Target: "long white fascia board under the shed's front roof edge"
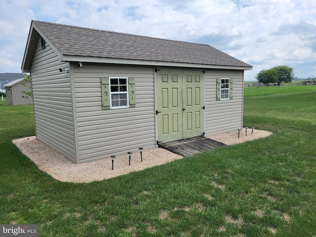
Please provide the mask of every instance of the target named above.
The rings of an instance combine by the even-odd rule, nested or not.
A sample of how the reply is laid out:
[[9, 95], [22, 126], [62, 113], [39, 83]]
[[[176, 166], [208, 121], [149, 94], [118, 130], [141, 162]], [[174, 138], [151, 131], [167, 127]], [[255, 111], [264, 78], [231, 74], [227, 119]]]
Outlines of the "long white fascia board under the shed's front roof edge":
[[72, 56], [72, 55], [64, 55], [62, 61], [83, 62], [83, 64], [84, 62], [87, 62], [87, 63], [111, 63], [111, 64], [166, 66], [166, 67], [184, 67], [184, 68], [252, 70], [252, 67], [234, 67], [234, 66], [221, 66], [221, 65], [162, 62], [162, 61], [134, 60], [134, 59], [120, 59], [120, 58], [85, 57], [85, 56]]

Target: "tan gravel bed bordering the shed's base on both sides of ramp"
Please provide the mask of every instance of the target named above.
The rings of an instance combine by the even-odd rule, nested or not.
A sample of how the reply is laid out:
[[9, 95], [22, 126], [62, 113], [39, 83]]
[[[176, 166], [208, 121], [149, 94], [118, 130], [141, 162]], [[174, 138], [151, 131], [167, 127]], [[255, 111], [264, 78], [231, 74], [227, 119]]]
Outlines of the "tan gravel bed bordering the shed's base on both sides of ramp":
[[[248, 129], [247, 136], [245, 130], [222, 133], [209, 138], [222, 142], [227, 145], [245, 142], [271, 135], [271, 132], [263, 130]], [[172, 162], [183, 157], [171, 153], [162, 148], [143, 150], [143, 162], [139, 152], [134, 152], [131, 156], [131, 165], [128, 165], [128, 155], [121, 155], [114, 160], [114, 170], [112, 170], [112, 159], [104, 158], [101, 160], [75, 164], [68, 158], [59, 154], [52, 148], [36, 139], [36, 136], [23, 137], [12, 140], [12, 142], [27, 156], [37, 167], [51, 175], [53, 178], [63, 182], [88, 183], [97, 180], [110, 179], [119, 175], [134, 171], [143, 170], [149, 167]]]

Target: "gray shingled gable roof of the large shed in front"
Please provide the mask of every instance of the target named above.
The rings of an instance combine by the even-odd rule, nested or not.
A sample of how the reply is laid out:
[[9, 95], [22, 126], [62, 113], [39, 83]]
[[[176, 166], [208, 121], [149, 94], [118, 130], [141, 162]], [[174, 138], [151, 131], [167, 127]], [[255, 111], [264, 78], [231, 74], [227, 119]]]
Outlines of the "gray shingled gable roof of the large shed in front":
[[[51, 43], [61, 61], [114, 62], [143, 65], [182, 63], [252, 68], [207, 44], [166, 40], [77, 26], [32, 21], [22, 71], [28, 72], [39, 37]], [[107, 60], [105, 60], [107, 59]]]

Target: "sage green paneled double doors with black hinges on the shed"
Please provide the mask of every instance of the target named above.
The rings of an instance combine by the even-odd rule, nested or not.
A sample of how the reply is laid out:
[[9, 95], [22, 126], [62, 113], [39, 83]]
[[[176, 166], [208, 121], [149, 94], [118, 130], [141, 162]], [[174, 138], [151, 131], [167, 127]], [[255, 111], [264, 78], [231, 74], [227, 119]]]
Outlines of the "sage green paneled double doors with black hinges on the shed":
[[199, 136], [204, 131], [204, 75], [200, 71], [157, 72], [158, 142]]

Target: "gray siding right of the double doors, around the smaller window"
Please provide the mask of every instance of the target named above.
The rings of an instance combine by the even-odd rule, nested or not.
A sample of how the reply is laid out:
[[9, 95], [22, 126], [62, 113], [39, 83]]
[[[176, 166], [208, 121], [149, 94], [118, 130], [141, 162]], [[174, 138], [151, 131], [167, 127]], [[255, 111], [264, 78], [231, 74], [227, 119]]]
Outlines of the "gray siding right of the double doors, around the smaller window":
[[[234, 80], [232, 100], [216, 100], [216, 79]], [[243, 71], [205, 71], [205, 136], [242, 127]]]

